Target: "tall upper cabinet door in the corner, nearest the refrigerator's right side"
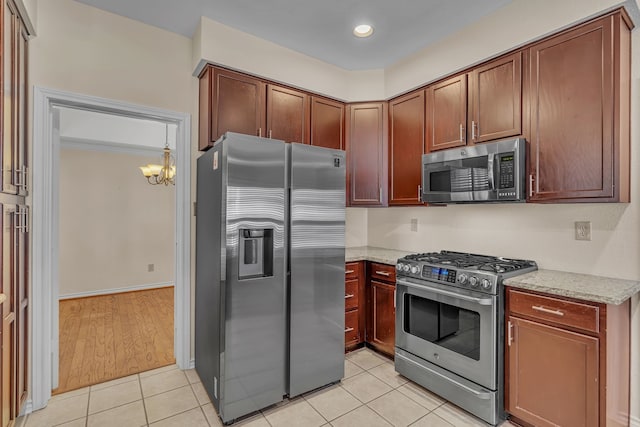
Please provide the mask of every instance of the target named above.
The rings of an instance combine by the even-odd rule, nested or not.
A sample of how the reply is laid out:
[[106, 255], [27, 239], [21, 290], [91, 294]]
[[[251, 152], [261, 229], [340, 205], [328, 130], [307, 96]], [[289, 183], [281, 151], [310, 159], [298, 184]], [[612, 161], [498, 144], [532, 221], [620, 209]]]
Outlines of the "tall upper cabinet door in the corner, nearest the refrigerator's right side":
[[351, 206], [385, 206], [387, 104], [352, 104], [347, 110], [347, 197]]

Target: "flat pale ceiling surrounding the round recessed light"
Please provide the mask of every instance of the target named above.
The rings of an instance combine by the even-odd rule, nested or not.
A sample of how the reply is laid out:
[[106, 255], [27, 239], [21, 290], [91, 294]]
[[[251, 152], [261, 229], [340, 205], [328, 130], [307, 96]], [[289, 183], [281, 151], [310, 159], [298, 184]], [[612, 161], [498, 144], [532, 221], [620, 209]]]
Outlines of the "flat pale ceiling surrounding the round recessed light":
[[[368, 70], [392, 65], [512, 0], [77, 1], [187, 37], [206, 16], [341, 68]], [[360, 23], [373, 25], [373, 36], [354, 37]]]

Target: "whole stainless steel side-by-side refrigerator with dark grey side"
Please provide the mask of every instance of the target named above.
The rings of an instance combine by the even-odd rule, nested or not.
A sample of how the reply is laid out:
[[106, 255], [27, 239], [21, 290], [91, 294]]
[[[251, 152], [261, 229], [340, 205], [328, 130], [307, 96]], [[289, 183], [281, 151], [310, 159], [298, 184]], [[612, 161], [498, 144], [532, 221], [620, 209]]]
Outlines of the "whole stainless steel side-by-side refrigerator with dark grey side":
[[344, 152], [227, 133], [196, 215], [196, 371], [222, 421], [339, 381]]

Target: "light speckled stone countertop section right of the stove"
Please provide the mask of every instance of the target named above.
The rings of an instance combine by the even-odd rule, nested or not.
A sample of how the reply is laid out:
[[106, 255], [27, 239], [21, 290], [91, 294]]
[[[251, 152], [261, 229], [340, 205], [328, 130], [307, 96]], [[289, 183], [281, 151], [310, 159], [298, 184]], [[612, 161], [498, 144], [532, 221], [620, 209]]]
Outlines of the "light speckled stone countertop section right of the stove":
[[619, 305], [640, 292], [640, 282], [556, 270], [538, 270], [506, 279], [504, 284], [591, 302]]

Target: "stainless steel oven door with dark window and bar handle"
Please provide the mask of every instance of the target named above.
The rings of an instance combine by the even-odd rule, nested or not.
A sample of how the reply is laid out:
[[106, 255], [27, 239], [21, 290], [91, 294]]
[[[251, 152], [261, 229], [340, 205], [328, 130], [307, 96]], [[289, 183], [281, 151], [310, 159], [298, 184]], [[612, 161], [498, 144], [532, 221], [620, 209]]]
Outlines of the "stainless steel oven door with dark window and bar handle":
[[402, 278], [396, 307], [396, 347], [496, 390], [495, 295]]

